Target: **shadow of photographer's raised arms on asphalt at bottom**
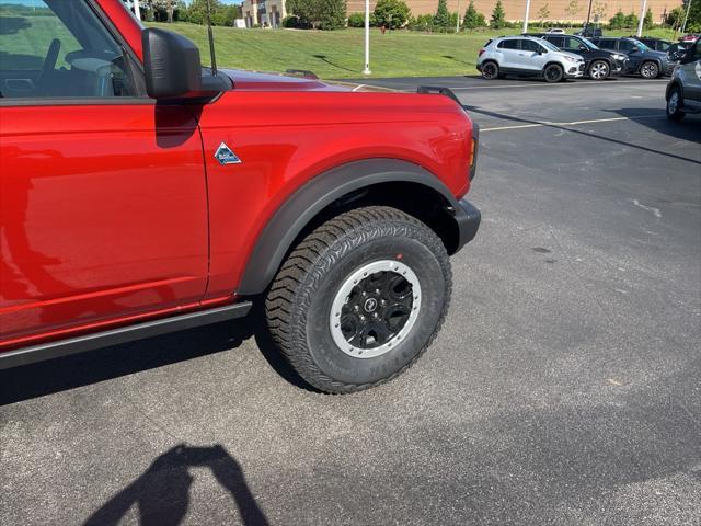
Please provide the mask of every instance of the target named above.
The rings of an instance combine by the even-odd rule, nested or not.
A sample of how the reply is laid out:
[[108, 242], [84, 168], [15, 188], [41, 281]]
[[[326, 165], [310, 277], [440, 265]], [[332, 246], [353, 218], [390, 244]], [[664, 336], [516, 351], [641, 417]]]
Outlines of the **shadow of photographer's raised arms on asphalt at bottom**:
[[179, 525], [189, 507], [194, 477], [189, 468], [209, 468], [233, 499], [245, 526], [269, 524], [245, 481], [237, 460], [221, 446], [181, 444], [159, 456], [134, 482], [94, 512], [84, 526], [117, 525], [137, 506], [141, 526]]

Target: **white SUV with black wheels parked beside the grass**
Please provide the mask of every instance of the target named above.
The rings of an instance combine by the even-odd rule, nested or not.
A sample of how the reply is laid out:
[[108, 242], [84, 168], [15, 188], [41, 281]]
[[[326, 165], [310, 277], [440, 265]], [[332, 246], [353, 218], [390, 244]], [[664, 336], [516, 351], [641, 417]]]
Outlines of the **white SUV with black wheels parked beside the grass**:
[[542, 77], [547, 82], [584, 76], [584, 59], [532, 36], [499, 36], [487, 41], [478, 56], [478, 70], [489, 80], [506, 75]]

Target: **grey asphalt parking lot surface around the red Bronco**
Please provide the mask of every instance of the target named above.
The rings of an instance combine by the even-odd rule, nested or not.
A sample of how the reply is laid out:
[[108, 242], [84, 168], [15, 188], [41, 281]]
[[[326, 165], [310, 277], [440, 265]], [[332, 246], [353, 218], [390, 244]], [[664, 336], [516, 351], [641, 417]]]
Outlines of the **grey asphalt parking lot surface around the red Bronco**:
[[663, 81], [381, 82], [482, 127], [426, 356], [323, 396], [251, 317], [2, 371], [0, 524], [701, 524], [701, 117]]

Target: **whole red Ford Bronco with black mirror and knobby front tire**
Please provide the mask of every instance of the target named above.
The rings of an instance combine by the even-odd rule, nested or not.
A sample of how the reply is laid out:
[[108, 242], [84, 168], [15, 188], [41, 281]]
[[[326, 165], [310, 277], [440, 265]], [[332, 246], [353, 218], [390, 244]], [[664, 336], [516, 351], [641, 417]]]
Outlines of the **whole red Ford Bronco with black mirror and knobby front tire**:
[[0, 0], [0, 368], [243, 317], [352, 392], [446, 316], [476, 126], [449, 92], [203, 68], [120, 0]]

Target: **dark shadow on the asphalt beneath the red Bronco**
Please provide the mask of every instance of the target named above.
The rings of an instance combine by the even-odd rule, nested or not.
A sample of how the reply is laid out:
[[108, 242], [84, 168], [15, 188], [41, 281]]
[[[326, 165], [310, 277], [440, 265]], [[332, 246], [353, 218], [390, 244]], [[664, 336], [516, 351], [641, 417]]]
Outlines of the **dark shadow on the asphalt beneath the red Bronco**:
[[251, 338], [280, 377], [297, 387], [311, 389], [280, 355], [267, 333], [265, 318], [257, 310], [240, 320], [0, 370], [0, 407], [234, 350]]

